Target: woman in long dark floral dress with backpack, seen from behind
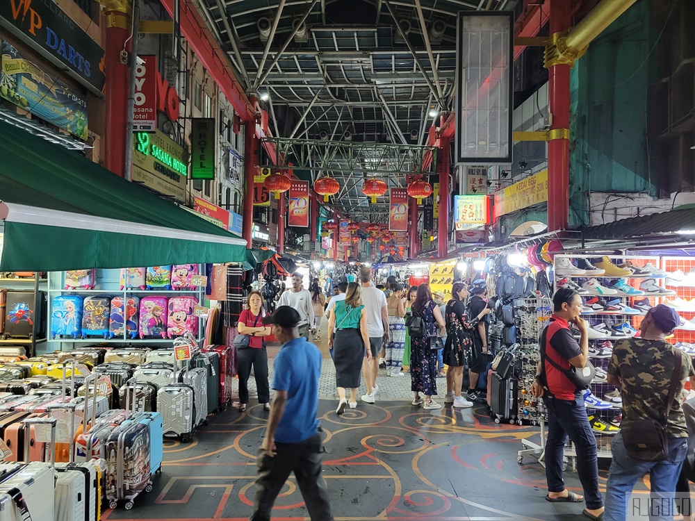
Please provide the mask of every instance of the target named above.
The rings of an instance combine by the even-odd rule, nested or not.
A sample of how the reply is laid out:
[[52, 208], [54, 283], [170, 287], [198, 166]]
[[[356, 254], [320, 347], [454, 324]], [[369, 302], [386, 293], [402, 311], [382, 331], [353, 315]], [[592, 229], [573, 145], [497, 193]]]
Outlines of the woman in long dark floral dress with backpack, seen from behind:
[[[412, 317], [409, 320], [410, 333], [410, 377], [411, 390], [414, 393], [413, 405], [422, 405], [425, 409], [439, 409], [432, 399], [436, 395], [436, 352], [441, 347], [439, 331], [446, 324], [439, 306], [432, 299], [429, 284], [420, 284], [418, 294], [411, 308]], [[420, 331], [415, 331], [414, 324], [420, 318]], [[420, 393], [425, 395], [423, 401]]]

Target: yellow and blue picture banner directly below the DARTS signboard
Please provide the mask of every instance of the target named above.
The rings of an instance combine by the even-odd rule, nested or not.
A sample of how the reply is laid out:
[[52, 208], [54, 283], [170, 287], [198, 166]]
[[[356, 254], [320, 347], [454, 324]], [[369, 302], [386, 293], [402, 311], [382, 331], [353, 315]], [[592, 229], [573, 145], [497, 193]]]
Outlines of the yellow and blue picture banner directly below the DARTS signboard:
[[87, 101], [43, 72], [10, 42], [2, 42], [0, 97], [60, 129], [87, 140]]

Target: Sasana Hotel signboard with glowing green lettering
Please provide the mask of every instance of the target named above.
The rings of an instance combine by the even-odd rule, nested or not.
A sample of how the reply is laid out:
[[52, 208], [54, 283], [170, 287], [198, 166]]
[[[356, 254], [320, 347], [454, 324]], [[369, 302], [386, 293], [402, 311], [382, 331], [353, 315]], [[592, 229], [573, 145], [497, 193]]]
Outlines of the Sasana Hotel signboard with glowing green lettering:
[[161, 131], [138, 132], [133, 139], [133, 183], [186, 201], [188, 156], [183, 147]]

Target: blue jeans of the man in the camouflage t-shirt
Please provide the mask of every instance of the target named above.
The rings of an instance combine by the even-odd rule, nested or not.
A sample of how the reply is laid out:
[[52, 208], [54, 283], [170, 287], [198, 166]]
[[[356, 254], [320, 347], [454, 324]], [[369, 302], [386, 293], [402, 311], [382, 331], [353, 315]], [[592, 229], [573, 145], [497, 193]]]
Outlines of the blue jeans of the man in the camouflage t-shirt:
[[[623, 444], [623, 437], [616, 434], [611, 442], [613, 461], [608, 473], [606, 484], [606, 509], [603, 514], [604, 521], [624, 521], [626, 519], [646, 519], [649, 505], [646, 497], [641, 497], [639, 502], [631, 502], [628, 505], [628, 497], [637, 480], [645, 474], [649, 474], [651, 483], [651, 498], [656, 499], [653, 505], [658, 506], [660, 500], [676, 498], [676, 483], [680, 475], [680, 468], [688, 452], [687, 438], [669, 438], [669, 458], [664, 461], [639, 461], [628, 456]], [[670, 507], [667, 506], [667, 510]], [[651, 515], [654, 513], [655, 515]], [[673, 519], [673, 511], [664, 511], [664, 515], [658, 515], [658, 509], [653, 508], [648, 518], [650, 520]]]

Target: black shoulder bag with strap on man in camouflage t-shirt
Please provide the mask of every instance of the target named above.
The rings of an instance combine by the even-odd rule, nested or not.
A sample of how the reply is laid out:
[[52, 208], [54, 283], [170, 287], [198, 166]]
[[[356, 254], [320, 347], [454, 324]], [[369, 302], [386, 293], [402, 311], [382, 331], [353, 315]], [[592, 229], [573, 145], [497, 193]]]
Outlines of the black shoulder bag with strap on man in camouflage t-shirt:
[[676, 357], [676, 363], [673, 368], [673, 377], [671, 377], [664, 422], [659, 422], [654, 418], [641, 418], [640, 420], [623, 419], [620, 424], [623, 445], [625, 445], [630, 458], [639, 461], [664, 461], [669, 457], [669, 437], [666, 426], [669, 422], [671, 404], [680, 384], [680, 369], [682, 367], [680, 354], [674, 352], [673, 355]]

